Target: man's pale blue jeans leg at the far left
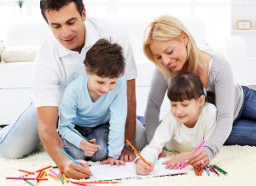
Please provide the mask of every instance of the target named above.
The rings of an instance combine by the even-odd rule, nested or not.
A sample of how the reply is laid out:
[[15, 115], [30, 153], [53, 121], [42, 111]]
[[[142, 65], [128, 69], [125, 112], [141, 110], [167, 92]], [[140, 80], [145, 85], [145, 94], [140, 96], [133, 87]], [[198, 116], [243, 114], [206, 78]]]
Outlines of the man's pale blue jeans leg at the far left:
[[39, 144], [38, 114], [31, 104], [14, 122], [0, 131], [0, 157], [21, 158]]

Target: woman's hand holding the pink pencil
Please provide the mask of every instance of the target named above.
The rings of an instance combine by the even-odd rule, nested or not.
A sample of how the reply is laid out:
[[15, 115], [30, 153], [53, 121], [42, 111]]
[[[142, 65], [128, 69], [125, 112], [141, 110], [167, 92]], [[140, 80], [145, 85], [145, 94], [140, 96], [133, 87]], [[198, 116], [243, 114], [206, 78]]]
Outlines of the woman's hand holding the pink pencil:
[[189, 159], [189, 165], [205, 168], [209, 164], [207, 152], [203, 149], [198, 149], [195, 154]]

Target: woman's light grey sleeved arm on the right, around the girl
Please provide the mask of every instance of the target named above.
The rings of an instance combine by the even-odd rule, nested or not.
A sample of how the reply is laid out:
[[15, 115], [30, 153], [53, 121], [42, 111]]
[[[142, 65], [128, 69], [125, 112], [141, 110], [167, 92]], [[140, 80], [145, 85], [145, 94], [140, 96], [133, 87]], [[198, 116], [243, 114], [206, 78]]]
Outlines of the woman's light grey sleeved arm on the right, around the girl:
[[213, 60], [213, 63], [217, 65], [212, 64], [211, 74], [214, 77], [211, 78], [213, 82], [209, 84], [212, 83], [215, 89], [217, 121], [211, 137], [203, 147], [209, 160], [218, 153], [230, 135], [235, 105], [235, 86], [230, 64], [224, 59]]

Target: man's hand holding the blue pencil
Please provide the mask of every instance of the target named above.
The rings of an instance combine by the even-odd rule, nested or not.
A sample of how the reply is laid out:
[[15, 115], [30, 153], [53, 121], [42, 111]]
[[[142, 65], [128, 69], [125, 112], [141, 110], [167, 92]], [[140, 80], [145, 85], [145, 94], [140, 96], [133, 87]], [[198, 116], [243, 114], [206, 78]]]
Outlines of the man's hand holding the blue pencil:
[[79, 160], [79, 163], [81, 165], [77, 165], [73, 161], [67, 160], [66, 162], [62, 161], [62, 163], [65, 164], [63, 165], [63, 172], [68, 178], [90, 178], [91, 172], [89, 169], [88, 162]]

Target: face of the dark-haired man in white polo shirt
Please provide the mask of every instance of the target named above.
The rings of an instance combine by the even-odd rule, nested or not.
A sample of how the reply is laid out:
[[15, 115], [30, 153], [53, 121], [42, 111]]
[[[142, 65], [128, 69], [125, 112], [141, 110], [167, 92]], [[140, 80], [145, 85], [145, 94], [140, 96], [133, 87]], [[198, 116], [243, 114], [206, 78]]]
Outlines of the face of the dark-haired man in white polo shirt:
[[85, 9], [81, 16], [75, 3], [69, 3], [58, 11], [46, 10], [45, 15], [55, 38], [65, 48], [80, 52], [85, 39]]

